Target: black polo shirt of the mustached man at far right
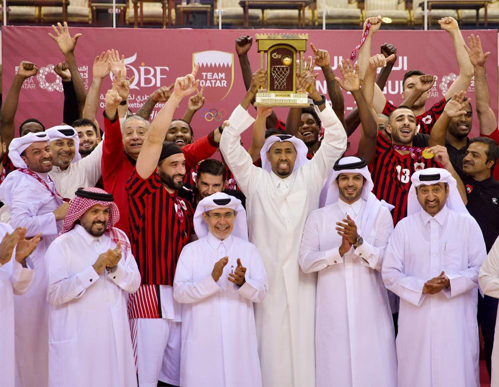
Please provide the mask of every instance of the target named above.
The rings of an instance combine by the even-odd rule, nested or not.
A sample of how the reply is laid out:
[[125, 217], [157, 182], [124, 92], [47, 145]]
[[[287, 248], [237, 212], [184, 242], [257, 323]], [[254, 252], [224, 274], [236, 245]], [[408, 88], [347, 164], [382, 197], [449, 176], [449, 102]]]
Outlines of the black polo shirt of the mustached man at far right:
[[463, 172], [457, 172], [466, 187], [468, 197], [466, 208], [480, 226], [489, 253], [499, 236], [499, 181], [492, 176], [477, 181]]

